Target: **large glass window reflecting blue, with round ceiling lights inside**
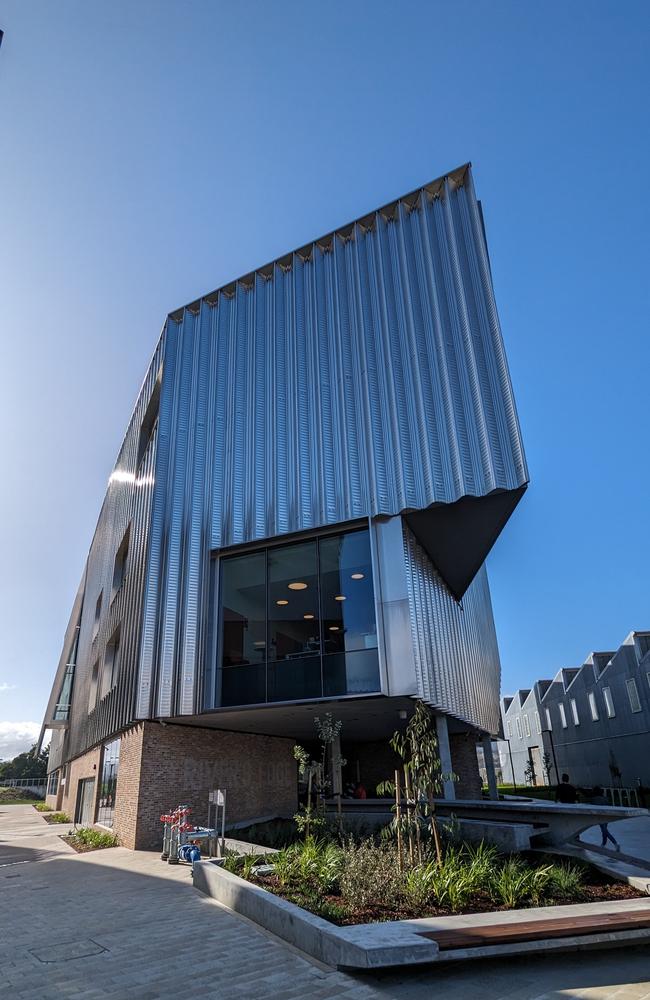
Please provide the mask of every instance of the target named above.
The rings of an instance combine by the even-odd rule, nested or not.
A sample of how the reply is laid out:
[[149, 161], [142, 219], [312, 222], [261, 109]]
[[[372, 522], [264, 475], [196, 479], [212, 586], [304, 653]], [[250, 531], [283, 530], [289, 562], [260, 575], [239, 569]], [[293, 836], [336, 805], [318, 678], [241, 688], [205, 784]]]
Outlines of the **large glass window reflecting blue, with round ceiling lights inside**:
[[379, 690], [367, 530], [221, 560], [217, 705]]

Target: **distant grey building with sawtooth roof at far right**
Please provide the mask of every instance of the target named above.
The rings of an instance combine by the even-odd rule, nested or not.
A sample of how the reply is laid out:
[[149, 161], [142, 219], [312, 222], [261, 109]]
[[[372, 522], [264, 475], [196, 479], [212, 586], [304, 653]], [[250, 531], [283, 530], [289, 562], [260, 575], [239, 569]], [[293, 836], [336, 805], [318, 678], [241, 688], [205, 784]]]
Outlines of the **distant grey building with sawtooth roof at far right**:
[[501, 703], [500, 768], [506, 782], [650, 787], [650, 631], [616, 652], [535, 681]]

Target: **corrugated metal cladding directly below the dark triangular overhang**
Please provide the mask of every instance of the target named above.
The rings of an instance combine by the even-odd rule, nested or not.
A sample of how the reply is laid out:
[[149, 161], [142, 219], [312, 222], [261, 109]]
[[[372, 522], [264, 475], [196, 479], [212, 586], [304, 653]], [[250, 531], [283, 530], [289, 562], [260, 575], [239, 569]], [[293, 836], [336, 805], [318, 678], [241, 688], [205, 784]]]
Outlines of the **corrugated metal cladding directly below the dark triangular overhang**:
[[499, 732], [501, 663], [485, 567], [459, 605], [404, 525], [418, 693], [433, 708]]

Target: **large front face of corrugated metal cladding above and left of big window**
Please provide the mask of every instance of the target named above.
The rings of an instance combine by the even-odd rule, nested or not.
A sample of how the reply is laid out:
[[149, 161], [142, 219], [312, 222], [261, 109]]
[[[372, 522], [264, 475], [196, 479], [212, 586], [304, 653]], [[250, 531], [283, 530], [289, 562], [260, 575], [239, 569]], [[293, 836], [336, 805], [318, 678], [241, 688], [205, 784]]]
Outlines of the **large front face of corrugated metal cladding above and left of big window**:
[[173, 314], [159, 450], [143, 716], [196, 708], [210, 548], [525, 484], [469, 168]]

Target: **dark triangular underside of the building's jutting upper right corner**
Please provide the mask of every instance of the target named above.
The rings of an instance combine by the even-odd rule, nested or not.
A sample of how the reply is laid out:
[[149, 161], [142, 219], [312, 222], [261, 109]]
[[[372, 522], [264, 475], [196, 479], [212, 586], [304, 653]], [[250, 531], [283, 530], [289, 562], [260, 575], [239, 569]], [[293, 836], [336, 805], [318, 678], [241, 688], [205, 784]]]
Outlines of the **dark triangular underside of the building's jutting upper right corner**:
[[457, 601], [485, 562], [525, 489], [521, 486], [486, 497], [463, 497], [456, 503], [404, 514]]

